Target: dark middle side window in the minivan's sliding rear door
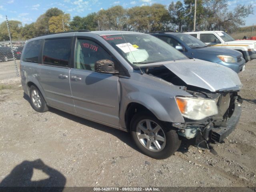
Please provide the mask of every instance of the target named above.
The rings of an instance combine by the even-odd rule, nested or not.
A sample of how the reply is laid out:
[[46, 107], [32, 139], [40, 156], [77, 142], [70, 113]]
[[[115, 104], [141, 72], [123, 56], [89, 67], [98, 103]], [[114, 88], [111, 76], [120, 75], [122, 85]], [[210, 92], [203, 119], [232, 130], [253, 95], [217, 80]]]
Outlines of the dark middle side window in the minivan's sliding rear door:
[[66, 67], [69, 64], [71, 38], [50, 39], [44, 42], [43, 63]]

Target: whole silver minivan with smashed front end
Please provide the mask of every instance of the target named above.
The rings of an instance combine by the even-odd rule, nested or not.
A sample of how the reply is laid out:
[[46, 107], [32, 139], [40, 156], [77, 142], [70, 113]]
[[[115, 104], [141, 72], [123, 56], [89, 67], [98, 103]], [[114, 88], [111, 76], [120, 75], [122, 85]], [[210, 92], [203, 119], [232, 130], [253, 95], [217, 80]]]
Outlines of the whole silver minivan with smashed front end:
[[26, 42], [21, 82], [32, 108], [48, 107], [130, 132], [162, 159], [181, 138], [209, 147], [234, 130], [242, 86], [233, 70], [190, 59], [137, 32], [86, 30]]

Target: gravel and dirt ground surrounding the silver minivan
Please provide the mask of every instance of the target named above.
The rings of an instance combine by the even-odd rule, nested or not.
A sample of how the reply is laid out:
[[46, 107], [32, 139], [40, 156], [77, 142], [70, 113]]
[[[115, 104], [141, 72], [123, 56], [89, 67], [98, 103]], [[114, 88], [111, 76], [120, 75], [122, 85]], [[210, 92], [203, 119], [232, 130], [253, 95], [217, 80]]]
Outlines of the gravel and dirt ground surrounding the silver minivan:
[[0, 186], [46, 178], [48, 186], [256, 186], [256, 61], [239, 76], [242, 116], [236, 130], [214, 144], [218, 155], [183, 142], [165, 160], [141, 154], [126, 132], [55, 109], [34, 111], [20, 80], [2, 76]]

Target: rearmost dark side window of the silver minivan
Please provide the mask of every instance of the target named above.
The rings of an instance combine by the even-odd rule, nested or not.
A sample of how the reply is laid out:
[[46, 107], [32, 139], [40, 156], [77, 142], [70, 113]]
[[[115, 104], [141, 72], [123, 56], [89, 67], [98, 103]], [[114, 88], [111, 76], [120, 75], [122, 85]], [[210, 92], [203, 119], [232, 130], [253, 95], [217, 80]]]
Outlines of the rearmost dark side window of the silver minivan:
[[26, 45], [22, 61], [38, 63], [42, 40], [31, 41]]

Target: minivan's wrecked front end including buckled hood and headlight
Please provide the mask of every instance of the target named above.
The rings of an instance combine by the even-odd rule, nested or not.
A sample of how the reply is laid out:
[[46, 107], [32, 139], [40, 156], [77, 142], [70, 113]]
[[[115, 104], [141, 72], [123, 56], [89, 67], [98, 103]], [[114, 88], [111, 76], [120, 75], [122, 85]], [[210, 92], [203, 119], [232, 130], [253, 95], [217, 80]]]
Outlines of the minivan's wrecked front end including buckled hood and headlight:
[[209, 148], [210, 142], [221, 142], [236, 127], [242, 112], [242, 87], [232, 70], [201, 60], [174, 61], [166, 69], [150, 70], [149, 74], [180, 86], [191, 96], [176, 96], [184, 122], [173, 122], [178, 134], [196, 138], [196, 145]]

